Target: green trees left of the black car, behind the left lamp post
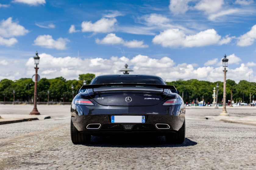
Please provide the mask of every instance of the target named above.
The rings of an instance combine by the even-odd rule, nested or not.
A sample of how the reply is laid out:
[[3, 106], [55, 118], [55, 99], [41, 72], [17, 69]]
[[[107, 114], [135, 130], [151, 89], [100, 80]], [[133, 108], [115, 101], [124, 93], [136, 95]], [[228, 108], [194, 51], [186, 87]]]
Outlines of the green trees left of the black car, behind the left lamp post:
[[[74, 96], [76, 91], [82, 87], [84, 80], [90, 84], [95, 77], [94, 74], [80, 74], [79, 80], [66, 80], [64, 77], [55, 79], [42, 78], [37, 82], [37, 101], [47, 102], [49, 91], [49, 101], [71, 102], [72, 91]], [[13, 101], [13, 90], [15, 91], [15, 101], [32, 101], [34, 98], [34, 82], [31, 78], [21, 78], [20, 80], [3, 79], [0, 81], [0, 101]], [[73, 85], [73, 89], [71, 88]]]

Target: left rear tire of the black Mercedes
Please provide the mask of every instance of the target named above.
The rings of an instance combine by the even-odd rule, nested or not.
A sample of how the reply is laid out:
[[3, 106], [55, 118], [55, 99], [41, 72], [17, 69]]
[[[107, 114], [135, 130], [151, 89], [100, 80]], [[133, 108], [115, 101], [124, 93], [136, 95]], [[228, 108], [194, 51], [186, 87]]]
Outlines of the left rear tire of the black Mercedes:
[[73, 144], [89, 144], [91, 142], [91, 135], [80, 133], [74, 126], [72, 119], [70, 122], [70, 136]]

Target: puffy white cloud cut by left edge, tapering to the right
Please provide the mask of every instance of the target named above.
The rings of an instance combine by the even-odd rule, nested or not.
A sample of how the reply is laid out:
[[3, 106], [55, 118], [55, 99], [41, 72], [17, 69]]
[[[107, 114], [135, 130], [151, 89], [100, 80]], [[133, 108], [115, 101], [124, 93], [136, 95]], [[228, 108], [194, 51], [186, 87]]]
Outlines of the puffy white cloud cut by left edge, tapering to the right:
[[29, 31], [18, 22], [12, 22], [12, 17], [0, 22], [0, 36], [9, 38], [14, 36], [24, 36]]

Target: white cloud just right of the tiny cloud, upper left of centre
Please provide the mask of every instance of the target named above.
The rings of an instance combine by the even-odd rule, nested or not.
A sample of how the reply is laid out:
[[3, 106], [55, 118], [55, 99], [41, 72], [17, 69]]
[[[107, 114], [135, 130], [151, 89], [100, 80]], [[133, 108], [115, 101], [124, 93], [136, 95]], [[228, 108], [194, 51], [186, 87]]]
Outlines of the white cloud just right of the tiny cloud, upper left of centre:
[[111, 32], [114, 30], [114, 25], [117, 20], [115, 18], [101, 18], [100, 20], [91, 23], [91, 21], [82, 22], [82, 32]]

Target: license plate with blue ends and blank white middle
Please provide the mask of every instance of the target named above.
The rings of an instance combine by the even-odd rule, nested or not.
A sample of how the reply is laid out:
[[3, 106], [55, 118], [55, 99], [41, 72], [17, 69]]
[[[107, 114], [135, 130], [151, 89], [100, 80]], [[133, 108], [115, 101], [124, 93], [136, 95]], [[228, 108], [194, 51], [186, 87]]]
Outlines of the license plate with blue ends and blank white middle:
[[111, 123], [145, 123], [145, 116], [111, 116]]

